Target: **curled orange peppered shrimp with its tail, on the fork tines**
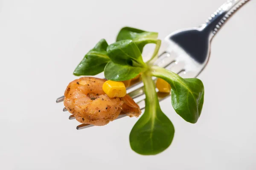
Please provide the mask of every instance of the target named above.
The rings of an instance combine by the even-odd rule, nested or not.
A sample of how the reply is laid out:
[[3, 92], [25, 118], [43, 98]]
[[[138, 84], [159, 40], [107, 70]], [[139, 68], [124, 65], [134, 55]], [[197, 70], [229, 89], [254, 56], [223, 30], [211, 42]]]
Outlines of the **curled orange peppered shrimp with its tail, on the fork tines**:
[[[135, 116], [132, 108], [138, 109], [139, 106], [128, 95], [122, 98], [109, 98], [102, 90], [105, 81], [94, 77], [81, 77], [67, 86], [64, 105], [77, 121], [103, 126], [116, 119], [122, 107], [124, 107], [123, 113]], [[140, 112], [136, 109], [135, 111]]]

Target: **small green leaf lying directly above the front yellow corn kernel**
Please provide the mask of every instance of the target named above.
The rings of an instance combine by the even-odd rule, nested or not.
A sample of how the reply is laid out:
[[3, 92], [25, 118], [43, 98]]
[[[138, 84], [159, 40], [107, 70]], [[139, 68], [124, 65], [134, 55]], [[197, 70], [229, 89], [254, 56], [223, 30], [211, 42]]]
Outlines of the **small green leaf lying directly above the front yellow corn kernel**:
[[108, 62], [104, 69], [106, 79], [113, 81], [124, 81], [133, 79], [145, 69], [141, 67], [133, 67], [130, 65], [119, 65], [112, 61]]

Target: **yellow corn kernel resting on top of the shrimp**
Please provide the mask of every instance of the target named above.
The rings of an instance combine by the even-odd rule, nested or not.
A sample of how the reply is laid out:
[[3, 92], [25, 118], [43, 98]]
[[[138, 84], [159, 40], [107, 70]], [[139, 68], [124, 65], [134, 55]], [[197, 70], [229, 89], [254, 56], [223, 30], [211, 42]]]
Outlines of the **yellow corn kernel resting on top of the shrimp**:
[[126, 88], [123, 82], [107, 80], [104, 82], [102, 89], [110, 98], [124, 97], [126, 94]]

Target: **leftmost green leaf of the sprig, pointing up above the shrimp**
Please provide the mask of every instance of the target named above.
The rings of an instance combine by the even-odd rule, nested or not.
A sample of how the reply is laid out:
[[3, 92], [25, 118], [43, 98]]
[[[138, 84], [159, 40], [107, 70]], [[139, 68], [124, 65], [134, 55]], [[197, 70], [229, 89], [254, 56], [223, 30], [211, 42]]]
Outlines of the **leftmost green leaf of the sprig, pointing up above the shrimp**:
[[76, 76], [93, 76], [104, 71], [105, 65], [110, 61], [106, 51], [107, 47], [108, 43], [106, 40], [100, 40], [84, 56], [84, 59], [76, 67], [73, 74]]

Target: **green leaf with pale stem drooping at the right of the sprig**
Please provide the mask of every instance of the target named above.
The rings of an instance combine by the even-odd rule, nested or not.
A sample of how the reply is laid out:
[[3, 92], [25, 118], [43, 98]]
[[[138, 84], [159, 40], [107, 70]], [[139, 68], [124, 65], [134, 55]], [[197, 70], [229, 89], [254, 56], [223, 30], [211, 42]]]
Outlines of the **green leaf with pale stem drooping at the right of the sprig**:
[[172, 106], [184, 120], [196, 123], [204, 103], [204, 85], [200, 79], [183, 79], [165, 68], [152, 66], [152, 75], [168, 82], [172, 87]]

